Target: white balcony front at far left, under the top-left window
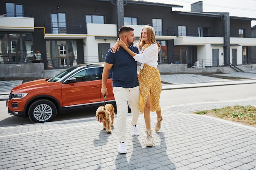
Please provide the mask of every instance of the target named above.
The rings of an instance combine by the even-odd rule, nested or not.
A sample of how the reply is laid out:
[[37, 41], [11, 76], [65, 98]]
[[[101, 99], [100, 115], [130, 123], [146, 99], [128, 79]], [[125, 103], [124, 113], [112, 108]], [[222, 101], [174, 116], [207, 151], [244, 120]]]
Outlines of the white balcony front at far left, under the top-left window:
[[0, 31], [34, 31], [34, 18], [0, 17]]

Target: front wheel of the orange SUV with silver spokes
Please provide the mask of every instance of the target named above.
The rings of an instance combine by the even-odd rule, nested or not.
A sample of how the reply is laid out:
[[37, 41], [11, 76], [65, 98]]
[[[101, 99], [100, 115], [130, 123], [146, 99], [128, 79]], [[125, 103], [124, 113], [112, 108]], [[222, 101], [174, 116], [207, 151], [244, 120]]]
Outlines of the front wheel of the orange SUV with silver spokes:
[[56, 106], [47, 99], [37, 100], [29, 107], [29, 119], [34, 123], [53, 121], [56, 115]]

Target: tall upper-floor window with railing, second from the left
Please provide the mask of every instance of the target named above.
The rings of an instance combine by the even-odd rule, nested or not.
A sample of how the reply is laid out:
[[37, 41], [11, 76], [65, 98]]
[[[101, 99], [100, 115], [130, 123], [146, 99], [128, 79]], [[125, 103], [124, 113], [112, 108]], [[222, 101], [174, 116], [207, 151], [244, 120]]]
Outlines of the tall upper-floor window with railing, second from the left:
[[52, 13], [52, 33], [66, 33], [66, 17], [65, 13]]

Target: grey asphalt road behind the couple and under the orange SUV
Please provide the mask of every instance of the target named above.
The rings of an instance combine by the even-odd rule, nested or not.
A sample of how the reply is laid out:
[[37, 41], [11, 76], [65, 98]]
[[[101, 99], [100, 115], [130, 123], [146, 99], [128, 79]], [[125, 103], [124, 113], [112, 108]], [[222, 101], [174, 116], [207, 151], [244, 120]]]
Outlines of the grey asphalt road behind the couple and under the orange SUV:
[[[183, 88], [162, 91], [160, 105], [162, 108], [191, 103], [227, 102], [240, 99], [255, 99], [255, 84], [238, 84], [200, 88]], [[256, 105], [256, 104], [255, 104]], [[95, 117], [95, 110], [90, 108], [81, 112], [57, 115], [54, 121]], [[0, 127], [32, 124], [30, 119], [9, 115], [6, 101], [0, 101]]]

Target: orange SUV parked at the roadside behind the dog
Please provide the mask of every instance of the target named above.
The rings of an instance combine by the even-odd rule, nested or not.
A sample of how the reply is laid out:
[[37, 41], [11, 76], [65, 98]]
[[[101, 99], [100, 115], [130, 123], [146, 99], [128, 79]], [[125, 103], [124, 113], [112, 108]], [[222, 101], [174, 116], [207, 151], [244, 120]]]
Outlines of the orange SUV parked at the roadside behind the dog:
[[[72, 66], [52, 78], [38, 79], [14, 87], [7, 99], [8, 113], [29, 117], [34, 123], [52, 121], [57, 113], [103, 105], [101, 76], [104, 62]], [[112, 73], [106, 103], [115, 104]]]

